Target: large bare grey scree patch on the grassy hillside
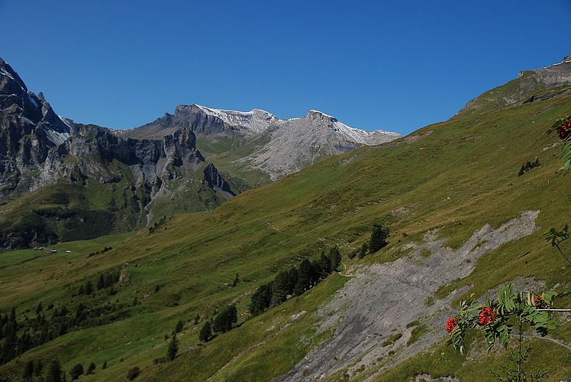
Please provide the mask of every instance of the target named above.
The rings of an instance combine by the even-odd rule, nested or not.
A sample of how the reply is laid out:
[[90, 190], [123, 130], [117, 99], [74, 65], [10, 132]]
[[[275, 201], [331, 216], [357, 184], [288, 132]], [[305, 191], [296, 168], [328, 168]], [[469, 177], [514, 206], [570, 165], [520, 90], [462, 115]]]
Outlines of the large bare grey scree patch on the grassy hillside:
[[[443, 322], [452, 313], [450, 301], [462, 291], [430, 306], [427, 298], [433, 298], [440, 286], [468, 276], [484, 253], [535, 232], [538, 214], [526, 211], [495, 229], [485, 225], [458, 250], [446, 247], [445, 239], [430, 231], [409, 256], [353, 271], [353, 278], [319, 313], [319, 331], [335, 328], [333, 338], [311, 351], [281, 381], [313, 381], [341, 370], [350, 376], [374, 370], [365, 379], [370, 381], [395, 363], [430, 349], [444, 338]], [[430, 256], [425, 256], [427, 251]], [[428, 333], [406, 346], [410, 336], [406, 326], [419, 318]], [[383, 346], [394, 333], [403, 336]]]

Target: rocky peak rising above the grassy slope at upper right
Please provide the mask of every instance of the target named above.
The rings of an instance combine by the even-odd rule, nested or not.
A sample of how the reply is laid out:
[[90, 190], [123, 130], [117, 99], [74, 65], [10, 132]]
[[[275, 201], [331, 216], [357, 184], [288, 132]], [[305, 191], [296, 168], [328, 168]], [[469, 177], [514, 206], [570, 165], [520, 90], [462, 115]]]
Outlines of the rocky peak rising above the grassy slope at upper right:
[[477, 96], [458, 112], [468, 115], [514, 106], [523, 102], [549, 99], [569, 91], [571, 85], [571, 54], [557, 64], [542, 69], [520, 71], [517, 79]]

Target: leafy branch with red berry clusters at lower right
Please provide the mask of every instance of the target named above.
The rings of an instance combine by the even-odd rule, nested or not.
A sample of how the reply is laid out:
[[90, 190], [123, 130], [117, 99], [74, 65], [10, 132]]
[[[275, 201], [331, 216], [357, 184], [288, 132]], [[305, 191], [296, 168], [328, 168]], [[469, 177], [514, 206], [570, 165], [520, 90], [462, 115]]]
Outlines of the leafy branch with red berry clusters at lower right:
[[478, 303], [470, 296], [468, 300], [460, 301], [458, 314], [446, 321], [445, 329], [450, 335], [448, 344], [464, 353], [466, 331], [470, 328], [480, 328], [484, 332], [488, 351], [496, 342], [507, 346], [516, 323], [528, 324], [545, 336], [548, 330], [555, 328], [555, 321], [550, 312], [539, 309], [549, 308], [555, 296], [555, 292], [537, 295], [529, 291], [516, 294], [513, 284], [503, 287], [497, 295], [497, 300], [487, 301], [485, 304]]

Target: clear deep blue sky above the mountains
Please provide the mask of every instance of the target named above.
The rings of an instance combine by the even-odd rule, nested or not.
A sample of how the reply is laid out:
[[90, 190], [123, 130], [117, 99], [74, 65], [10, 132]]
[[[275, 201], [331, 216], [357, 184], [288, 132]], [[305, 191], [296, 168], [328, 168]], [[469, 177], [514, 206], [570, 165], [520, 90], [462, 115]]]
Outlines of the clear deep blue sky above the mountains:
[[82, 123], [203, 104], [408, 133], [560, 61], [570, 18], [571, 0], [0, 0], [0, 56]]

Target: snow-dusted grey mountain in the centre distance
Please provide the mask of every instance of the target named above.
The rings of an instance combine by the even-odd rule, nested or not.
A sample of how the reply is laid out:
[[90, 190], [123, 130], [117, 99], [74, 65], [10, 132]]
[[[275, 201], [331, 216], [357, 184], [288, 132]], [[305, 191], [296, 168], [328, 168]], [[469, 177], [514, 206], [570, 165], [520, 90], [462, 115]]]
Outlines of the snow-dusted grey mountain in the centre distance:
[[216, 166], [243, 179], [256, 179], [253, 186], [281, 179], [328, 156], [400, 137], [354, 129], [315, 110], [284, 120], [260, 109], [231, 111], [201, 105], [177, 106], [174, 114], [117, 134], [158, 139], [181, 128], [196, 134], [198, 147]]

